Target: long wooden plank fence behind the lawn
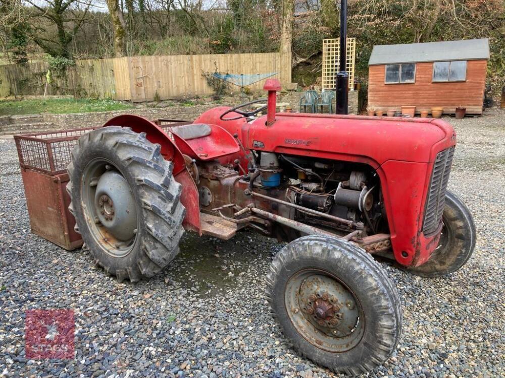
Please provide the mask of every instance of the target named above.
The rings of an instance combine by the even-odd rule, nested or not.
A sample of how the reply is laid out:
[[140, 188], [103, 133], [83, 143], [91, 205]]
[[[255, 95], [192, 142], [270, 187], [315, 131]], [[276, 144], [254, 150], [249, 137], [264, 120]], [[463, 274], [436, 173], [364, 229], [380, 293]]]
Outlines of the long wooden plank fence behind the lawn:
[[[283, 85], [291, 83], [291, 56], [278, 52], [254, 54], [209, 54], [130, 56], [110, 59], [77, 60], [65, 75], [52, 75], [48, 95], [113, 98], [151, 101], [213, 93], [205, 72], [266, 74]], [[0, 97], [43, 95], [48, 64], [0, 66]], [[249, 86], [261, 89], [264, 80]], [[233, 87], [233, 86], [232, 86]], [[239, 90], [238, 87], [233, 88]]]

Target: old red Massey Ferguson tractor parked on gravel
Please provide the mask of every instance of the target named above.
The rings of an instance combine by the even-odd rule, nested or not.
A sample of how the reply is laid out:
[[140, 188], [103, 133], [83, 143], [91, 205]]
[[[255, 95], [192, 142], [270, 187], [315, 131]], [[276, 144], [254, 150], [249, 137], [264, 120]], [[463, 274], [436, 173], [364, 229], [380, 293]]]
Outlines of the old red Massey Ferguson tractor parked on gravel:
[[286, 241], [267, 277], [284, 334], [333, 371], [370, 371], [402, 318], [373, 257], [435, 277], [472, 254], [472, 216], [446, 190], [456, 134], [439, 119], [276, 113], [280, 85], [265, 89], [254, 111], [264, 100], [169, 132], [121, 115], [81, 137], [68, 166], [76, 230], [120, 281], [161, 271], [184, 230]]

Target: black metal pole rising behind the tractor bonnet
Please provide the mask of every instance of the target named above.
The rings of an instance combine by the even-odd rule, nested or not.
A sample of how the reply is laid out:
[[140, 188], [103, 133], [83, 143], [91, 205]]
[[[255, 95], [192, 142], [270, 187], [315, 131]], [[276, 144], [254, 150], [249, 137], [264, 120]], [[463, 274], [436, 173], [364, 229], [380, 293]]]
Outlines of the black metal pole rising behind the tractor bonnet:
[[340, 71], [337, 74], [337, 101], [335, 113], [347, 114], [349, 103], [349, 74], [347, 62], [347, 0], [340, 0]]

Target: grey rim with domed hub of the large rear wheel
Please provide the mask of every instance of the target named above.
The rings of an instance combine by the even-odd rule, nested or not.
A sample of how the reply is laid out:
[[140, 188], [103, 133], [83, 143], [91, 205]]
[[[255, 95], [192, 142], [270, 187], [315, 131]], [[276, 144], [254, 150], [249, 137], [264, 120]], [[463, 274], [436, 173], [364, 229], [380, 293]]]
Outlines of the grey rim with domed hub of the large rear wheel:
[[137, 238], [135, 200], [128, 182], [109, 160], [97, 158], [84, 168], [83, 213], [91, 236], [108, 255], [127, 256]]

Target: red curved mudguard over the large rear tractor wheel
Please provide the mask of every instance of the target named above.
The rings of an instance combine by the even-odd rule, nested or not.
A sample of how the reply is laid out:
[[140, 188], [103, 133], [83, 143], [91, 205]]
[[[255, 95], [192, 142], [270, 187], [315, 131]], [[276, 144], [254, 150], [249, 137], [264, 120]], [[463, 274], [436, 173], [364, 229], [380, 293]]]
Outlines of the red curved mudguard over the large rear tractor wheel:
[[144, 117], [131, 114], [111, 118], [104, 124], [104, 127], [107, 126], [129, 127], [135, 133], [145, 133], [145, 137], [149, 142], [160, 145], [161, 154], [165, 160], [169, 160], [174, 164], [173, 175], [177, 182], [182, 185], [181, 203], [186, 208], [182, 225], [186, 230], [190, 229], [201, 235], [198, 189], [186, 168], [181, 151], [165, 134], [163, 129]]

